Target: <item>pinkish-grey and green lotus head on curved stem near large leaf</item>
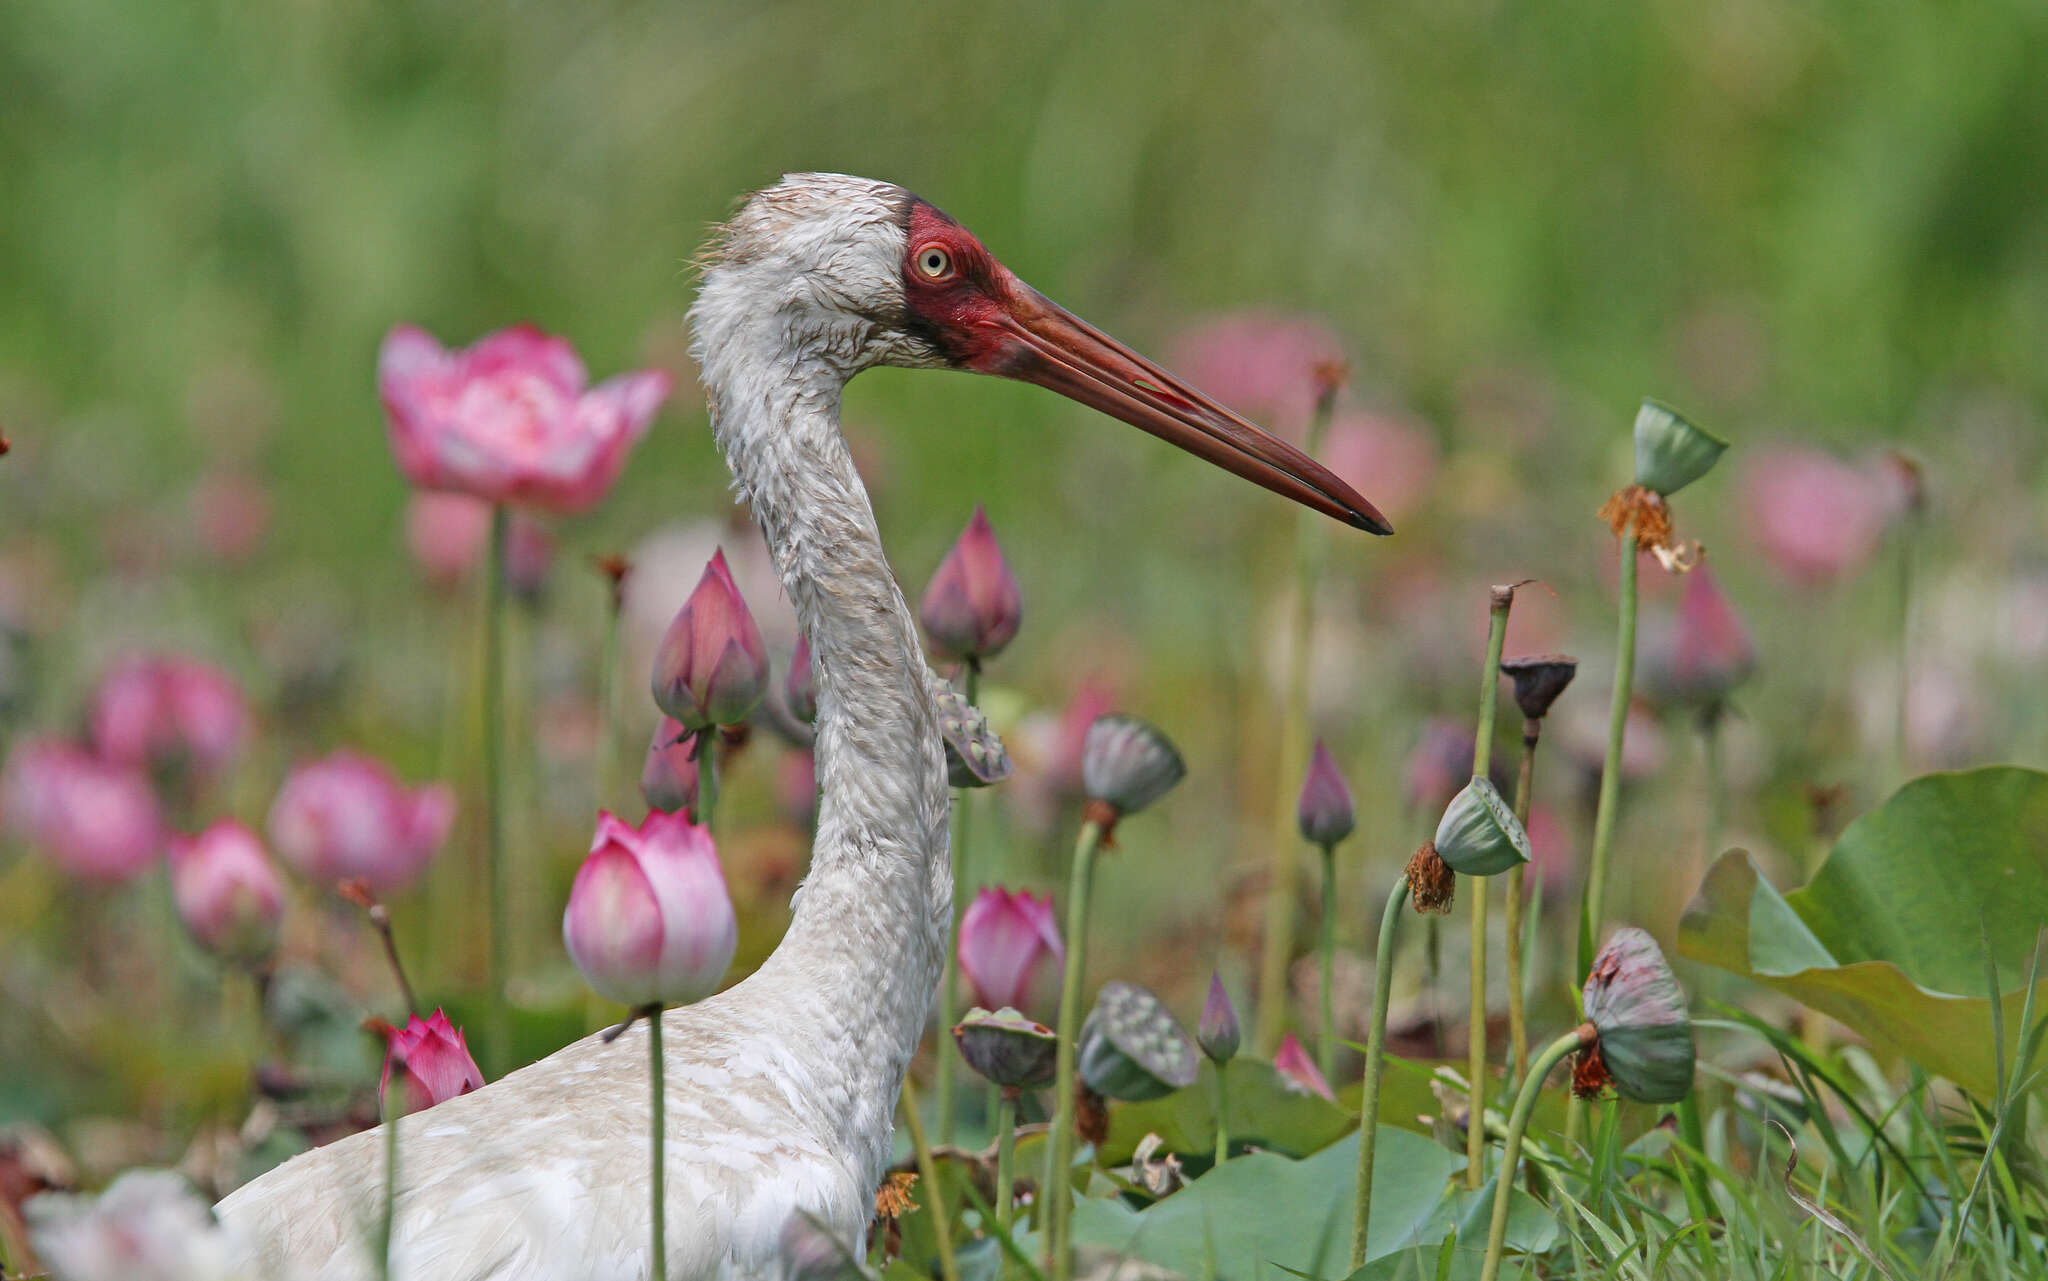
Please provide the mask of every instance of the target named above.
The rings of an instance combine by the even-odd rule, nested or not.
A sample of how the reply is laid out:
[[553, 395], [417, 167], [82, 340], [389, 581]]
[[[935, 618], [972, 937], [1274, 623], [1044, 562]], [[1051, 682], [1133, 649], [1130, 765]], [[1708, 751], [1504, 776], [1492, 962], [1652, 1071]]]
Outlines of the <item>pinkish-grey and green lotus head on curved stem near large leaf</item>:
[[1593, 972], [1585, 978], [1585, 1021], [1599, 1031], [1599, 1064], [1622, 1099], [1677, 1103], [1692, 1092], [1686, 990], [1645, 931], [1614, 931], [1593, 957]]

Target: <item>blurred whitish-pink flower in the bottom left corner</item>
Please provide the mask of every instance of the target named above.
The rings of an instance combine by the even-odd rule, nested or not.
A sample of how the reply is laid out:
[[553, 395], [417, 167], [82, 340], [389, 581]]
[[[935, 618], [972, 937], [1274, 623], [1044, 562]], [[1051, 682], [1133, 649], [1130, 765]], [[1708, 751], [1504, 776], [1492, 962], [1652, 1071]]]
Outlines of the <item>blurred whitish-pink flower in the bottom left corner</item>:
[[29, 1242], [53, 1281], [256, 1281], [248, 1240], [213, 1217], [184, 1174], [129, 1170], [98, 1197], [43, 1193]]

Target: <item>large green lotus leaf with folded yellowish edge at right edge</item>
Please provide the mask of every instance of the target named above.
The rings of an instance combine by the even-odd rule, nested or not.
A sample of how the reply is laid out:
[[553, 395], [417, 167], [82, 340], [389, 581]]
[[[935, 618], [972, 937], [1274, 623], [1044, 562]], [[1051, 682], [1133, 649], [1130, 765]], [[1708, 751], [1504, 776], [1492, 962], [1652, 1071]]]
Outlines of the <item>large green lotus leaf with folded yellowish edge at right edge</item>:
[[1907, 783], [1849, 824], [1792, 894], [1778, 894], [1745, 851], [1729, 851], [1686, 908], [1677, 949], [1991, 1094], [1987, 949], [2011, 1056], [2044, 918], [2048, 773], [1991, 767]]

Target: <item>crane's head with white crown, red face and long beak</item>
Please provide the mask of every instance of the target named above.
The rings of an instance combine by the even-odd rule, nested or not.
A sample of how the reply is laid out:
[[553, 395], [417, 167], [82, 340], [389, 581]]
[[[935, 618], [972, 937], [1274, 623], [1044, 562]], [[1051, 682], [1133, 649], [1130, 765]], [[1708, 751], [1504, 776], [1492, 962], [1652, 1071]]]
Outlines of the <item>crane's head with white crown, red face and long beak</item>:
[[836, 377], [903, 365], [1038, 383], [1346, 525], [1393, 533], [1307, 453], [1044, 297], [891, 182], [788, 174], [745, 201], [702, 266], [690, 320], [707, 377], [723, 348], [752, 340], [801, 348]]

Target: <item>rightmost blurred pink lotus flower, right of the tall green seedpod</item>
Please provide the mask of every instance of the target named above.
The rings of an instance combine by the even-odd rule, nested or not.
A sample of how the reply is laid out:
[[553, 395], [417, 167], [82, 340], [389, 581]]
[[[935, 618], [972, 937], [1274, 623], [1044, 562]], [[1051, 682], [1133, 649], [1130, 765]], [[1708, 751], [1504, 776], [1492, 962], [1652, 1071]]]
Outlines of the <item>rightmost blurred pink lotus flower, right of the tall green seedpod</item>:
[[1821, 584], [1868, 562], [1894, 504], [1896, 484], [1884, 473], [1819, 449], [1761, 449], [1743, 467], [1749, 533], [1800, 584]]

